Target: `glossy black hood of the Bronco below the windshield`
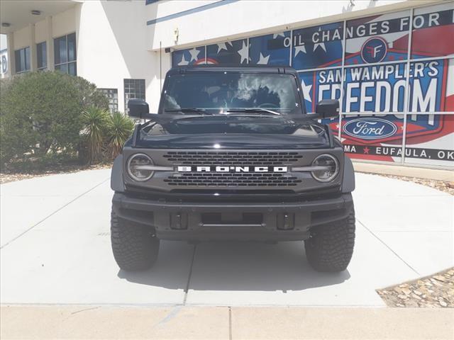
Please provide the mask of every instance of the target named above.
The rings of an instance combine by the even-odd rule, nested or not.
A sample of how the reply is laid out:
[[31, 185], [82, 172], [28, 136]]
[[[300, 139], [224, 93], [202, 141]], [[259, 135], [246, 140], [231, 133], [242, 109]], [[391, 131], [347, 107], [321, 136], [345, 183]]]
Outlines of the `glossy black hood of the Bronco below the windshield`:
[[329, 147], [314, 120], [264, 115], [214, 115], [151, 123], [137, 146], [170, 149], [316, 149]]

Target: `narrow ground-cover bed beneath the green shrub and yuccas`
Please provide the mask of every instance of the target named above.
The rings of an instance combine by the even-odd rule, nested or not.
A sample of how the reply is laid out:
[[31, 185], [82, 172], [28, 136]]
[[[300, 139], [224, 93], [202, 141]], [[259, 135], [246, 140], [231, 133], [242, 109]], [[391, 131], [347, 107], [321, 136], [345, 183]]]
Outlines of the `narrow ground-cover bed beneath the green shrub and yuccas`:
[[61, 165], [55, 166], [52, 169], [43, 171], [28, 171], [23, 173], [0, 173], [0, 184], [9, 183], [13, 181], [21, 181], [23, 179], [33, 179], [34, 177], [43, 177], [55, 174], [70, 174], [82, 170], [96, 170], [96, 169], [109, 169], [112, 164], [96, 164], [96, 165]]

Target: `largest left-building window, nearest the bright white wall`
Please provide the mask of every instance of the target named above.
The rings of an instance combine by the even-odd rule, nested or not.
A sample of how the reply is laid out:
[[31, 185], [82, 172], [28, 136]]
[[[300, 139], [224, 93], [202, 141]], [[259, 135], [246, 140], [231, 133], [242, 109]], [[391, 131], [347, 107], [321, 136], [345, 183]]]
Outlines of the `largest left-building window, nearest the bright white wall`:
[[76, 33], [54, 39], [55, 70], [77, 75]]

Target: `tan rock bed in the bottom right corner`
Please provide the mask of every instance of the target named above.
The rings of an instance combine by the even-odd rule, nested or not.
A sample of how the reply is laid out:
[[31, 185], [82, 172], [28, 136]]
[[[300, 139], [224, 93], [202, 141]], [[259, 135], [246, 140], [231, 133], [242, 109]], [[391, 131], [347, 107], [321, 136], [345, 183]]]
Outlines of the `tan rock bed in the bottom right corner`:
[[377, 293], [388, 307], [454, 307], [454, 268]]

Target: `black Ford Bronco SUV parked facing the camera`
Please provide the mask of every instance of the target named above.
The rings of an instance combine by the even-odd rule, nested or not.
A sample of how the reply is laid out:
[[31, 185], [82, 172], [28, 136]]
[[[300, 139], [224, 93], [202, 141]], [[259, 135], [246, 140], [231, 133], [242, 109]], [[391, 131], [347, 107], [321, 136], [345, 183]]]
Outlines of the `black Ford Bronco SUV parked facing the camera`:
[[289, 67], [170, 69], [157, 114], [128, 101], [135, 126], [115, 159], [111, 242], [118, 266], [149, 268], [160, 240], [304, 241], [317, 271], [343, 271], [355, 242], [353, 165], [306, 113]]

